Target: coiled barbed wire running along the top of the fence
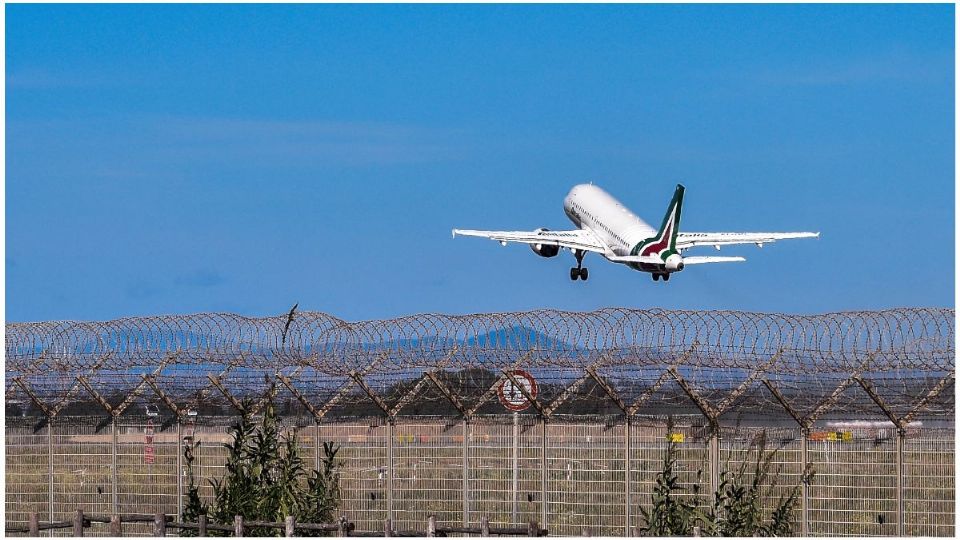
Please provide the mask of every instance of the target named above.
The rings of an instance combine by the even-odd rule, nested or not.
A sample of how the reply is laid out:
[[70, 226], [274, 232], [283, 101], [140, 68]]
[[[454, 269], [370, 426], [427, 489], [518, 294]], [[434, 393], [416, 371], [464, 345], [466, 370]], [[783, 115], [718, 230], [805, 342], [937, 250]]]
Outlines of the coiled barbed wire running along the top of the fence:
[[[372, 399], [359, 382], [345, 391], [358, 376], [385, 403], [407, 396], [413, 406], [449, 401], [441, 383], [421, 388], [427, 373], [444, 374], [448, 389], [469, 400], [489, 393], [502, 371], [522, 367], [542, 381], [544, 402], [566, 392], [570, 410], [608, 407], [611, 391], [622, 403], [642, 401], [639, 413], [690, 409], [692, 390], [757, 414], [782, 414], [781, 398], [797, 410], [813, 411], [830, 398], [834, 410], [875, 412], [869, 392], [845, 391], [857, 382], [897, 414], [921, 404], [952, 415], [944, 385], [952, 385], [955, 369], [954, 319], [954, 310], [939, 308], [822, 315], [608, 308], [360, 322], [297, 312], [11, 323], [7, 394], [32, 394], [48, 408], [88, 394], [110, 402], [142, 391], [151, 374], [155, 390], [172, 402], [224, 404], [231, 396], [262, 396], [282, 376], [295, 383], [290, 392], [301, 403], [336, 397], [338, 407], [356, 412]], [[765, 391], [764, 380], [784, 395]], [[419, 393], [411, 400], [414, 385]]]

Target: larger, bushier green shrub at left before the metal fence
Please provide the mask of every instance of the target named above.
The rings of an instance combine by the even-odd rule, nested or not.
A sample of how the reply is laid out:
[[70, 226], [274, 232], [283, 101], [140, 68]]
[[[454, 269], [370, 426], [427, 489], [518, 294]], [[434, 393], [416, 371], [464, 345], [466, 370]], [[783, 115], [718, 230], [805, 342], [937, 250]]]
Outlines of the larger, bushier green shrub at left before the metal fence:
[[[191, 466], [185, 519], [207, 513], [217, 523], [233, 523], [237, 515], [249, 521], [282, 522], [286, 516], [294, 516], [300, 523], [333, 521], [340, 504], [339, 447], [324, 443], [321, 469], [307, 474], [296, 433], [281, 434], [272, 400], [259, 424], [254, 423], [251, 402], [244, 401], [231, 432], [224, 475], [210, 482], [214, 500], [209, 506], [200, 500], [194, 483], [192, 450], [185, 451]], [[260, 527], [251, 529], [250, 534], [280, 536], [282, 531]]]

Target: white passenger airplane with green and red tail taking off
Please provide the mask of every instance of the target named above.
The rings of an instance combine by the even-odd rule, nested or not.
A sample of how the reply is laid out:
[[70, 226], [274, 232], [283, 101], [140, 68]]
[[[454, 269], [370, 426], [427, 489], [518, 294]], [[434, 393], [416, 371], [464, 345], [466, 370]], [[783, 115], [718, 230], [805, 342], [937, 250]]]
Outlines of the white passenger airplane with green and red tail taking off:
[[572, 231], [551, 231], [546, 228], [535, 231], [453, 229], [453, 237], [489, 238], [503, 246], [507, 242], [528, 244], [541, 257], [555, 257], [561, 248], [569, 249], [577, 259], [577, 266], [570, 269], [570, 279], [573, 281], [587, 280], [589, 274], [583, 267], [583, 258], [591, 252], [599, 253], [610, 262], [647, 272], [654, 281], [661, 278], [668, 281], [671, 274], [682, 271], [688, 265], [746, 260], [743, 257], [683, 256], [683, 251], [692, 247], [713, 246], [717, 250], [721, 246], [735, 244], [763, 247], [777, 240], [820, 236], [819, 232], [680, 232], [683, 191], [684, 187], [677, 184], [659, 230], [637, 217], [609, 193], [590, 183], [574, 186], [563, 200], [564, 213], [577, 226]]

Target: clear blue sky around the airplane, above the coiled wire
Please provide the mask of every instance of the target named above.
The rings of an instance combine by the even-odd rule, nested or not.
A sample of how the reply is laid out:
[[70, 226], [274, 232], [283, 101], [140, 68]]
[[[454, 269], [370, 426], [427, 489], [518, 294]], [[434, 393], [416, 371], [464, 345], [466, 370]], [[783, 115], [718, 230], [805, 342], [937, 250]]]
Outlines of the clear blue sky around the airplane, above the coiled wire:
[[[6, 317], [953, 306], [953, 9], [8, 5]], [[822, 238], [664, 284], [450, 237], [586, 181]]]

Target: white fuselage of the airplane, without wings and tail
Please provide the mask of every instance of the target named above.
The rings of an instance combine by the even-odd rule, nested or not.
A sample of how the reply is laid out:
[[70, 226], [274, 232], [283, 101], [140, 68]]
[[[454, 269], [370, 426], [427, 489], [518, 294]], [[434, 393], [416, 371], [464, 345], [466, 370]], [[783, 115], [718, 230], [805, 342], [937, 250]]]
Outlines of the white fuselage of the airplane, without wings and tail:
[[657, 234], [656, 229], [593, 184], [573, 186], [563, 199], [563, 211], [574, 225], [599, 236], [616, 255], [629, 255], [634, 246]]

